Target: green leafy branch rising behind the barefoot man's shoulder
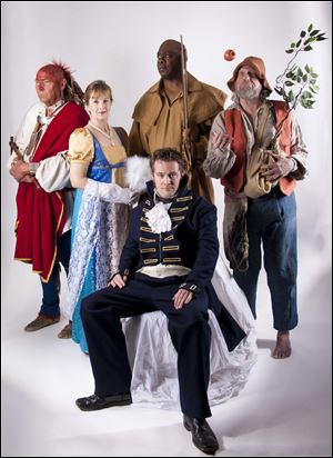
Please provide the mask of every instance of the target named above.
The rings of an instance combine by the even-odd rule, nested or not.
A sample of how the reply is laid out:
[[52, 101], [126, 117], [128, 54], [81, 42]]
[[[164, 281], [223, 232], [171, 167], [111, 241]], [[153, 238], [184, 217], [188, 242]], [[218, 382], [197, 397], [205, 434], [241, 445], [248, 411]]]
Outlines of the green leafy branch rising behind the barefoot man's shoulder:
[[313, 108], [315, 94], [320, 89], [316, 84], [319, 74], [313, 67], [310, 67], [307, 63], [302, 69], [294, 61], [300, 52], [312, 51], [315, 42], [326, 40], [324, 34], [325, 32], [313, 29], [313, 24], [311, 23], [306, 31], [302, 30], [300, 38], [292, 41], [289, 49], [285, 50], [287, 54], [293, 54], [293, 57], [287, 62], [284, 72], [276, 78], [274, 90], [289, 104], [289, 108], [285, 117], [276, 127], [273, 142], [279, 138], [289, 113], [295, 110], [299, 103], [301, 103], [303, 108]]

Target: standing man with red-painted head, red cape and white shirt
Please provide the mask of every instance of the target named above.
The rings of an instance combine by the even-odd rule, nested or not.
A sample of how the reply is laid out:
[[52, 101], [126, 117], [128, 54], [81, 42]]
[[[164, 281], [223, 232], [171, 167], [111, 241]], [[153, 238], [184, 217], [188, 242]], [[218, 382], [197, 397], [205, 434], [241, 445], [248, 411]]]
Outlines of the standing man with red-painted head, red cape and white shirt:
[[32, 265], [43, 291], [39, 315], [26, 331], [60, 320], [60, 262], [68, 271], [73, 202], [65, 156], [70, 135], [89, 120], [82, 91], [62, 63], [39, 69], [36, 90], [40, 103], [22, 121], [16, 138], [21, 155], [10, 160], [10, 175], [19, 182], [14, 259]]

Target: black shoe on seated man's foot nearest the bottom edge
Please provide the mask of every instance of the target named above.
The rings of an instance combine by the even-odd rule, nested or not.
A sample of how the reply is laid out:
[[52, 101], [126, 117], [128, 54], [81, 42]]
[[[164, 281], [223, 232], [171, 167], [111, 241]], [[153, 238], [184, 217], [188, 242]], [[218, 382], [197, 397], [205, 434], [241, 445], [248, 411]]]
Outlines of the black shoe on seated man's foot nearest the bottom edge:
[[215, 455], [215, 451], [219, 450], [219, 442], [204, 418], [192, 418], [184, 415], [184, 427], [192, 432], [192, 441], [199, 450], [206, 455]]

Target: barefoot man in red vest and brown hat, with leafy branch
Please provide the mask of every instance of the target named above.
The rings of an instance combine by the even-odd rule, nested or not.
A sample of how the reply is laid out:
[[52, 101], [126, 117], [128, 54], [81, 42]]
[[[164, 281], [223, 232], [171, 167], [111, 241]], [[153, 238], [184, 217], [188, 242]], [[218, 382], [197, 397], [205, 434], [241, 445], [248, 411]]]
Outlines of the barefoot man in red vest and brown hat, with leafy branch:
[[278, 359], [291, 355], [290, 330], [297, 325], [294, 188], [296, 180], [306, 175], [307, 157], [292, 110], [297, 102], [312, 108], [319, 89], [317, 74], [311, 67], [306, 64], [303, 71], [291, 64], [300, 51], [309, 51], [314, 41], [324, 40], [323, 34], [311, 24], [286, 50], [294, 57], [276, 79], [275, 88], [283, 101], [268, 100], [272, 89], [261, 58], [251, 56], [236, 66], [228, 81], [233, 104], [215, 118], [203, 165], [205, 172], [224, 186], [224, 250], [254, 318], [263, 245], [273, 326], [278, 330], [272, 356]]

